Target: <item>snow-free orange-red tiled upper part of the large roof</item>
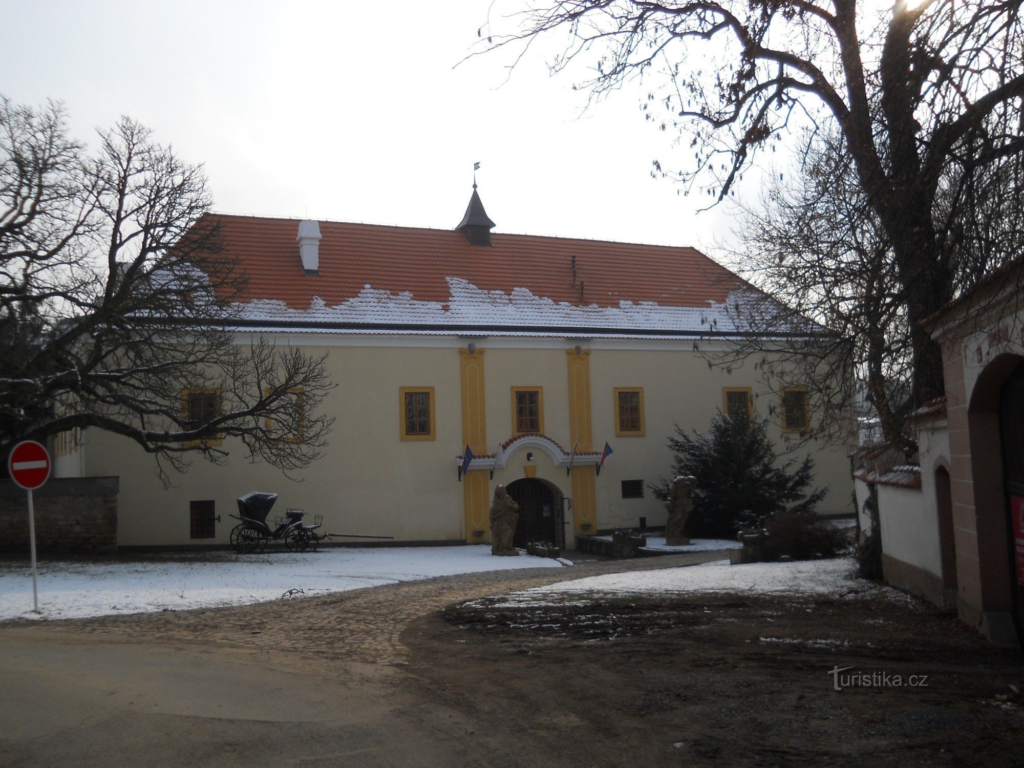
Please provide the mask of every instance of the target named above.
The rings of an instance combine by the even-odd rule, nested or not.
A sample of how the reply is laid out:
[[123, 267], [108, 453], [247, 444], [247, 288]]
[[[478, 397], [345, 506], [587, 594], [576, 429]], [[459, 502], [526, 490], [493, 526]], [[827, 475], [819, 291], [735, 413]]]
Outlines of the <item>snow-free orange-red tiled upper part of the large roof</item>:
[[708, 307], [749, 287], [693, 248], [502, 233], [493, 234], [486, 248], [471, 246], [455, 230], [338, 221], [319, 222], [319, 273], [307, 275], [295, 240], [298, 219], [224, 214], [208, 219], [221, 225], [228, 253], [248, 274], [244, 298], [282, 301], [299, 310], [313, 297], [327, 306], [340, 304], [367, 286], [446, 302], [447, 278], [483, 291], [527, 289], [554, 302], [600, 307], [624, 300]]

